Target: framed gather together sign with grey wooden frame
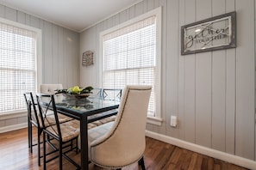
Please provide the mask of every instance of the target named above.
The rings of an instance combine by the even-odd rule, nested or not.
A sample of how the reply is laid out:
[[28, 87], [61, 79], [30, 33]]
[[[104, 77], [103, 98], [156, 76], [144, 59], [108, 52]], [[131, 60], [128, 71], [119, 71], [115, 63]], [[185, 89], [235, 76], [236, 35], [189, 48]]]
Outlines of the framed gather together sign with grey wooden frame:
[[181, 54], [236, 46], [236, 14], [230, 12], [181, 27]]

